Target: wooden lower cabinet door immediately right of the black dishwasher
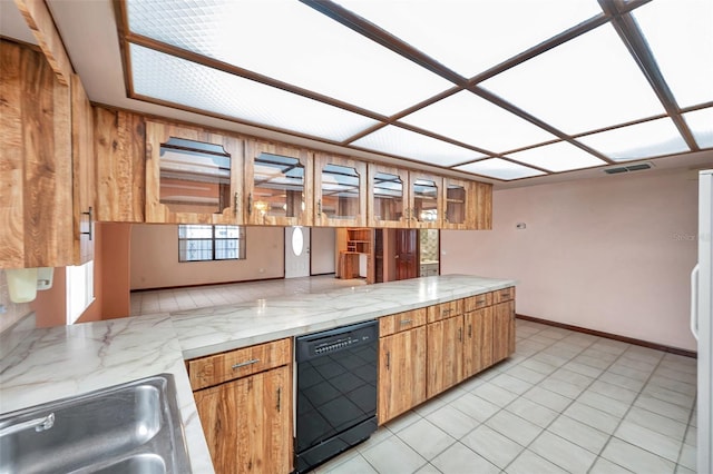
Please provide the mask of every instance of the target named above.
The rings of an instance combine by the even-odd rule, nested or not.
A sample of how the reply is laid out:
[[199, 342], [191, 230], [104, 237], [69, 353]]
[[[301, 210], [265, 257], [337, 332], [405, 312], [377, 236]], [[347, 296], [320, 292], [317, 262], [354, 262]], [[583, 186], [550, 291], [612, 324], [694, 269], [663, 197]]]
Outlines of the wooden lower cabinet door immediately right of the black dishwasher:
[[426, 326], [379, 339], [379, 424], [426, 401]]

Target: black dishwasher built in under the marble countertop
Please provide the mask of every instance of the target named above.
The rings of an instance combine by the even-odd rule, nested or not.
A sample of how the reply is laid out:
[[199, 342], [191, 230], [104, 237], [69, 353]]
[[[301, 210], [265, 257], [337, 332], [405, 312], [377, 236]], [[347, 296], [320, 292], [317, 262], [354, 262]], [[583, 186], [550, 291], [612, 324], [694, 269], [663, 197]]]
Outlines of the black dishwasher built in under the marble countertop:
[[375, 320], [295, 337], [295, 472], [304, 473], [377, 429]]

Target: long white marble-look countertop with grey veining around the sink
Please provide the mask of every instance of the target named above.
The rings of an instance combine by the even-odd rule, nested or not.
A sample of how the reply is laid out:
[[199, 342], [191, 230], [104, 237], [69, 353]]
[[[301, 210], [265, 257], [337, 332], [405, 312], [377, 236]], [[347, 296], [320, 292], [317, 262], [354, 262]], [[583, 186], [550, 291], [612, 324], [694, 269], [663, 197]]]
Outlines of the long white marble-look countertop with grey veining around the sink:
[[[0, 413], [170, 373], [195, 473], [213, 472], [184, 359], [330, 329], [508, 286], [446, 275], [172, 314], [17, 332], [0, 339]], [[22, 334], [21, 340], [18, 334]], [[3, 333], [2, 336], [6, 336]]]

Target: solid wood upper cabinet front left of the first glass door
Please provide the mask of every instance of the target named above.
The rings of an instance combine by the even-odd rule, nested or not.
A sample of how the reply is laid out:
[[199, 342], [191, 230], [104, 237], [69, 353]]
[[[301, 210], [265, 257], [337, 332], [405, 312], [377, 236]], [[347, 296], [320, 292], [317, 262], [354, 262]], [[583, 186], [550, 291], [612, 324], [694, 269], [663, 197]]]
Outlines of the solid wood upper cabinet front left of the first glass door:
[[106, 223], [145, 221], [146, 124], [124, 110], [94, 107], [97, 167], [96, 219]]

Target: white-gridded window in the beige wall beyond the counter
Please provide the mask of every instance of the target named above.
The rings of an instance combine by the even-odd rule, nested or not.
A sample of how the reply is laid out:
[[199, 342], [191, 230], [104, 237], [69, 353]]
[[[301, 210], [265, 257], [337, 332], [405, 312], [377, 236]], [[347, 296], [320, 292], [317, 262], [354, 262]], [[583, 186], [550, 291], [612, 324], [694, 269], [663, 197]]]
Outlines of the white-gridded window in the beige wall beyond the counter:
[[245, 258], [245, 228], [240, 226], [178, 226], [178, 261]]

